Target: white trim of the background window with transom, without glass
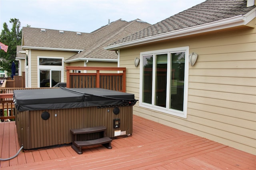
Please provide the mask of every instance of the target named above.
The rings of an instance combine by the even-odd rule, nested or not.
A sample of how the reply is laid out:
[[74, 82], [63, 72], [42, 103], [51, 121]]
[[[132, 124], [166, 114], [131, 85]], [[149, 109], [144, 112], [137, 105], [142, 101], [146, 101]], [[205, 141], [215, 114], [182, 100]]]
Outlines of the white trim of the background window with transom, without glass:
[[[61, 66], [46, 66], [46, 65], [39, 65], [39, 59], [62, 59]], [[40, 87], [40, 70], [51, 70], [51, 71], [61, 71], [61, 82], [64, 82], [64, 57], [45, 57], [45, 56], [37, 56], [37, 86]]]

